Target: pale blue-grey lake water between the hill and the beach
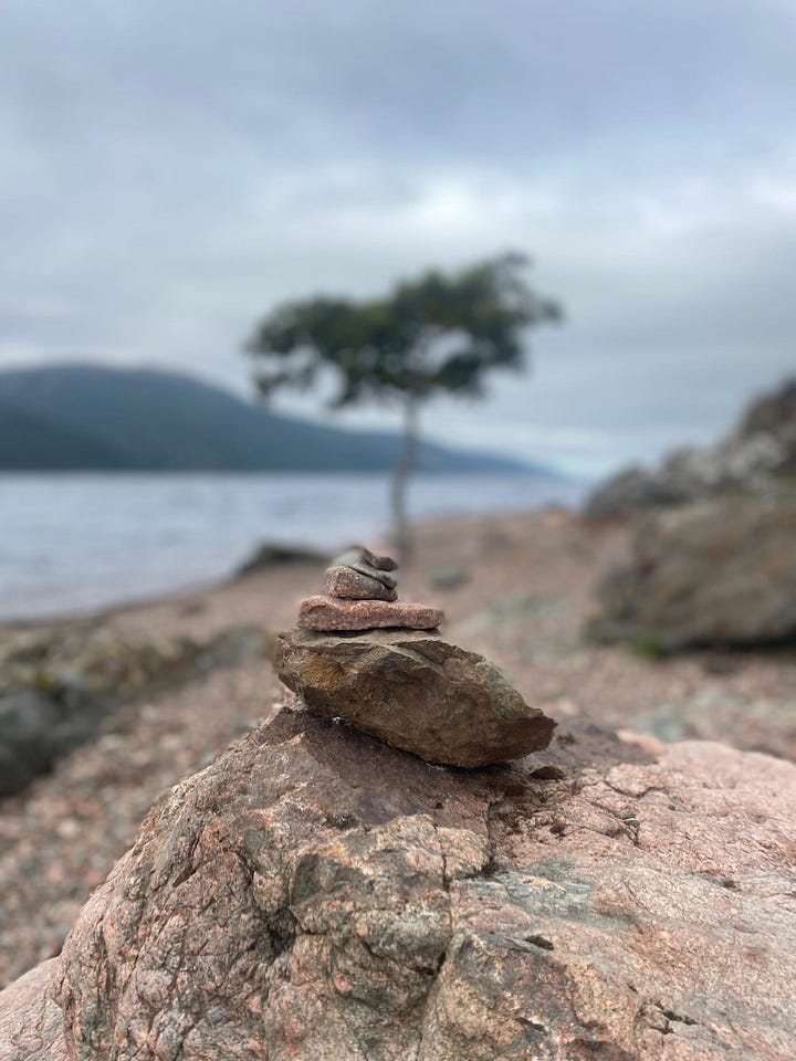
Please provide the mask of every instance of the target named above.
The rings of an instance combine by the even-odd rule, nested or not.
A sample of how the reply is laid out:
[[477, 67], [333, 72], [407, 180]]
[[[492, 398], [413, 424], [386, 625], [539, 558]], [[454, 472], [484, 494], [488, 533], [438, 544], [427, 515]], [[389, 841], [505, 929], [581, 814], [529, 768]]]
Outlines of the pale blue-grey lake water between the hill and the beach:
[[[572, 484], [418, 476], [412, 518], [576, 503]], [[198, 587], [261, 542], [333, 550], [387, 528], [381, 475], [0, 475], [0, 619]]]

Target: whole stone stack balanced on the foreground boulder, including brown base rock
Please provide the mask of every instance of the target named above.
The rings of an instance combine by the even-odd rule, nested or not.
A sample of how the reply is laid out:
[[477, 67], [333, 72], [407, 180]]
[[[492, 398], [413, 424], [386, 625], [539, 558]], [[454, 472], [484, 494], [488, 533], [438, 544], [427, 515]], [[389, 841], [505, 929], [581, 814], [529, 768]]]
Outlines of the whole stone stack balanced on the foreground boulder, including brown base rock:
[[549, 743], [555, 723], [494, 663], [443, 640], [439, 608], [398, 600], [395, 560], [349, 549], [276, 639], [274, 663], [304, 706], [429, 763], [489, 766]]

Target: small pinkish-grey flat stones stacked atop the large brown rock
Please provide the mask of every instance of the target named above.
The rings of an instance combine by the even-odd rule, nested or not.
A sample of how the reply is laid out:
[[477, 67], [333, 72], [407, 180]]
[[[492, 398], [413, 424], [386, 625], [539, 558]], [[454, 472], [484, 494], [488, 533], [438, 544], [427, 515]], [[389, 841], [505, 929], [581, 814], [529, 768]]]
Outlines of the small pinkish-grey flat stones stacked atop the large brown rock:
[[304, 630], [436, 630], [444, 614], [439, 608], [398, 601], [398, 565], [362, 546], [338, 556], [326, 571], [325, 595], [307, 597], [298, 610]]

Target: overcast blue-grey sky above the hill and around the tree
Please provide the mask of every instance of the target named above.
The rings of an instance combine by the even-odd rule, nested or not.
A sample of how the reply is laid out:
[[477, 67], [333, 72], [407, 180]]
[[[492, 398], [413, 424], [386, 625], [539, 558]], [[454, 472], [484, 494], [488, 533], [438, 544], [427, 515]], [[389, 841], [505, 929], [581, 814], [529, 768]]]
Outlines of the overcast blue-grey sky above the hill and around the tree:
[[279, 302], [511, 248], [565, 324], [430, 437], [585, 475], [710, 442], [796, 372], [795, 56], [793, 0], [4, 0], [0, 368], [248, 395]]

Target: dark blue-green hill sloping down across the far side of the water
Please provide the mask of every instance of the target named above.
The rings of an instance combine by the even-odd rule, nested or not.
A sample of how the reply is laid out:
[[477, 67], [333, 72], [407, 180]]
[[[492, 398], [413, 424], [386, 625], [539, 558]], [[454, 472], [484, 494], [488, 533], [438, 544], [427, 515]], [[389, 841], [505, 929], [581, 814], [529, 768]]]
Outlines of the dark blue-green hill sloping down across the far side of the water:
[[[0, 372], [0, 470], [378, 472], [400, 440], [274, 413], [185, 376], [87, 365]], [[423, 472], [547, 469], [425, 442]]]

